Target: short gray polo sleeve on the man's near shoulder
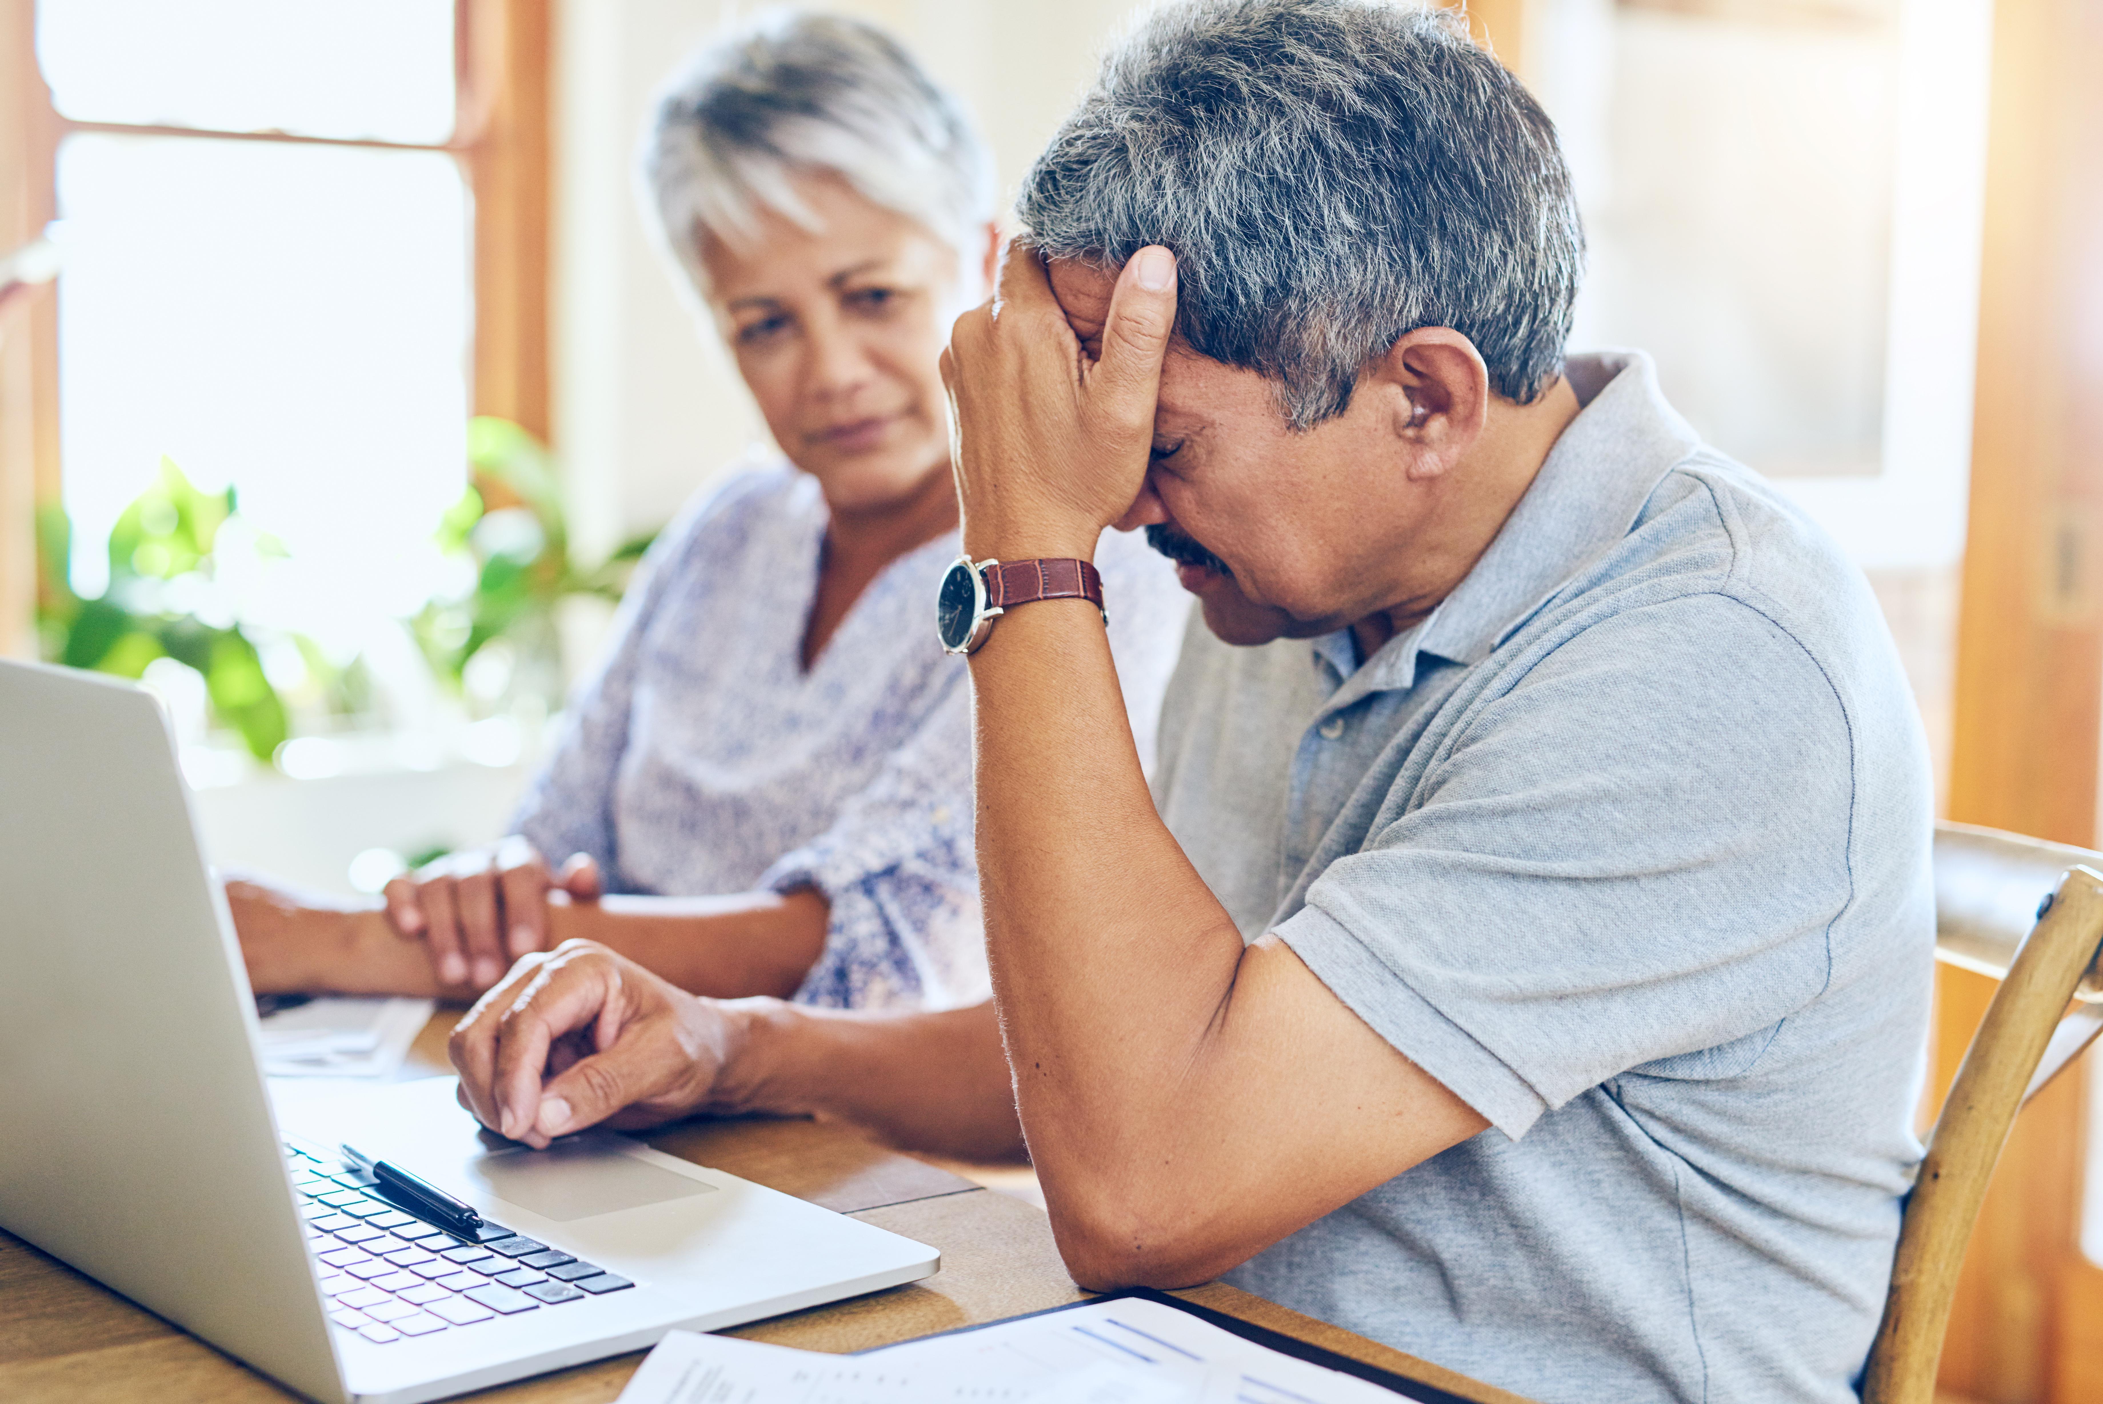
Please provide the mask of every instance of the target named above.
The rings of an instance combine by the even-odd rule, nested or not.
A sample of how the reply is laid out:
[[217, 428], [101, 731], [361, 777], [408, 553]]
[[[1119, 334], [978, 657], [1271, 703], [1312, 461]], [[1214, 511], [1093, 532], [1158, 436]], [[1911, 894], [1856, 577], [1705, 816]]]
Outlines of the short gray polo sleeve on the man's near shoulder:
[[1647, 1063], [1743, 1071], [1825, 987], [1855, 779], [1825, 671], [1722, 594], [1514, 674], [1277, 930], [1516, 1139]]

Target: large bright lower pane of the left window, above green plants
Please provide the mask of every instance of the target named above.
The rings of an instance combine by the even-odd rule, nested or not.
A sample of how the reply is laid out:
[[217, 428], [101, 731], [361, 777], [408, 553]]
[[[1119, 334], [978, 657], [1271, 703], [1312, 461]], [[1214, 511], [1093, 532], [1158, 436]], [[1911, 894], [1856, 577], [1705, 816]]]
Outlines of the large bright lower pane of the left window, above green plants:
[[[444, 152], [118, 137], [59, 147], [74, 585], [168, 457], [284, 543], [238, 606], [355, 648], [429, 596], [465, 484], [467, 187]], [[418, 549], [425, 547], [425, 549]], [[400, 596], [400, 600], [397, 600]]]

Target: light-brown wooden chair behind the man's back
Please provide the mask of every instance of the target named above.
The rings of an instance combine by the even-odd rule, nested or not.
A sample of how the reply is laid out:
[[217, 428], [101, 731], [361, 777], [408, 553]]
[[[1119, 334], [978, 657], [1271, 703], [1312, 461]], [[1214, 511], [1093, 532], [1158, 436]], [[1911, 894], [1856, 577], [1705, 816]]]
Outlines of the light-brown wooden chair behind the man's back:
[[2015, 1114], [2103, 1034], [2099, 947], [2103, 853], [1937, 825], [1935, 956], [2002, 983], [1905, 1204], [1863, 1404], [1933, 1404], [1964, 1242]]

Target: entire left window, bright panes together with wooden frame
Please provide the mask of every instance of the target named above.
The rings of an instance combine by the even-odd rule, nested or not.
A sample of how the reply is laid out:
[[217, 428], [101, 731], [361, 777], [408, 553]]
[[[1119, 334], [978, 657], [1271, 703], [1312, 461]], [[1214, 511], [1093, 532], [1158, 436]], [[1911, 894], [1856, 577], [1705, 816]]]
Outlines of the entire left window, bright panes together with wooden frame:
[[57, 381], [38, 495], [72, 522], [74, 594], [105, 589], [111, 526], [172, 465], [231, 486], [238, 520], [210, 589], [160, 606], [242, 623], [309, 711], [330, 667], [393, 659], [400, 686], [360, 701], [427, 720], [400, 619], [458, 585], [433, 533], [467, 482], [469, 415], [547, 432], [547, 0], [6, 15], [32, 8], [48, 109], [27, 126], [55, 141], [25, 179], [63, 257], [29, 347]]

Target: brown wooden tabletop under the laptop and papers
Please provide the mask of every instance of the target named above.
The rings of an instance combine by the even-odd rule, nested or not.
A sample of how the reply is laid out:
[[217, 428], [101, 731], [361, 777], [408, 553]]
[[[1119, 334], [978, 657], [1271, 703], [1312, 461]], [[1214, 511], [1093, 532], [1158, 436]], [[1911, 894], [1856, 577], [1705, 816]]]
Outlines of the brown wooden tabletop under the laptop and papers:
[[[454, 1015], [440, 1012], [418, 1038], [410, 1059], [412, 1076], [450, 1071], [444, 1040], [452, 1019]], [[858, 1351], [1083, 1297], [1066, 1276], [1052, 1242], [1052, 1225], [1039, 1208], [890, 1151], [848, 1128], [808, 1120], [715, 1120], [683, 1122], [646, 1139], [671, 1156], [728, 1170], [942, 1250], [942, 1271], [934, 1278], [753, 1322], [732, 1335], [803, 1349]], [[1224, 1282], [1178, 1297], [1438, 1385], [1466, 1400], [1525, 1404], [1514, 1393], [1287, 1311]], [[604, 1404], [620, 1393], [639, 1362], [641, 1353], [635, 1351], [467, 1398]], [[0, 1400], [217, 1404], [290, 1398], [294, 1396], [233, 1358], [0, 1231]]]

